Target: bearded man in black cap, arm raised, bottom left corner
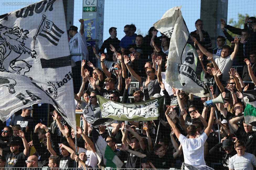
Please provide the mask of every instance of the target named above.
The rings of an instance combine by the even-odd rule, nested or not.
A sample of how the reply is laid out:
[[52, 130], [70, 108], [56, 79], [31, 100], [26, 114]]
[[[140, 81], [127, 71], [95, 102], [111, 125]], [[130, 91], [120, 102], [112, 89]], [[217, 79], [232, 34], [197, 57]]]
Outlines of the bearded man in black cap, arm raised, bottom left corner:
[[19, 132], [20, 134], [18, 134], [18, 136], [22, 138], [23, 145], [25, 147], [23, 152], [19, 152], [19, 148], [22, 145], [20, 141], [11, 141], [10, 144], [8, 144], [10, 146], [11, 153], [0, 148], [0, 155], [4, 156], [7, 160], [7, 170], [13, 169], [14, 167], [23, 167], [24, 162], [29, 154], [29, 146], [24, 132]]

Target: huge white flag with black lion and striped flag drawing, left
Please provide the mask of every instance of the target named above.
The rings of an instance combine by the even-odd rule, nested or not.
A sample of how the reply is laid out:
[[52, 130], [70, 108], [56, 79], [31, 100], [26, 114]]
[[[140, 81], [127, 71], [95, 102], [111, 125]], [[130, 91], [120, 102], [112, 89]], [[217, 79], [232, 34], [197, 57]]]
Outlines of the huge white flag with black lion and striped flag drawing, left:
[[0, 119], [5, 121], [32, 104], [51, 103], [75, 128], [71, 57], [62, 0], [40, 1], [2, 16]]

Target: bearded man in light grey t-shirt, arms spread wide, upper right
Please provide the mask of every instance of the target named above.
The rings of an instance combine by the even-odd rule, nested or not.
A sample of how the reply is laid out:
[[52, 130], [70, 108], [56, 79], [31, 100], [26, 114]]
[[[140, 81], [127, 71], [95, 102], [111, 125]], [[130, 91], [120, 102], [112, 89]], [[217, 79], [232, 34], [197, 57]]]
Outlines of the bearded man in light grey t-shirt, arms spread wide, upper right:
[[[229, 71], [230, 68], [234, 62], [234, 59], [236, 58], [237, 52], [238, 52], [238, 43], [239, 38], [236, 36], [234, 41], [231, 43], [235, 43], [234, 52], [230, 54], [230, 46], [224, 45], [222, 47], [221, 55], [212, 54], [211, 52], [207, 51], [200, 43], [194, 38], [191, 37], [192, 40], [195, 42], [195, 44], [198, 45], [199, 49], [206, 55], [207, 57], [213, 57], [215, 63], [217, 64], [218, 68], [220, 69], [220, 72], [222, 73], [222, 81], [227, 81], [229, 79]], [[215, 63], [213, 62], [214, 68], [216, 68]]]

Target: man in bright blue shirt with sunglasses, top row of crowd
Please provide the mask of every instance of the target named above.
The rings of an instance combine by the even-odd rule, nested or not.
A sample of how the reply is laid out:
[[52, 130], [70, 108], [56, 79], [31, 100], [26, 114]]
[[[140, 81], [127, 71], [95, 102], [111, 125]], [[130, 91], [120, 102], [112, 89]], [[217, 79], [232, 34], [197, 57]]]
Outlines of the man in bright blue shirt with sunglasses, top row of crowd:
[[132, 34], [131, 26], [124, 26], [125, 36], [121, 39], [119, 46], [121, 48], [127, 49], [127, 47], [131, 44], [135, 44], [135, 39], [137, 34]]

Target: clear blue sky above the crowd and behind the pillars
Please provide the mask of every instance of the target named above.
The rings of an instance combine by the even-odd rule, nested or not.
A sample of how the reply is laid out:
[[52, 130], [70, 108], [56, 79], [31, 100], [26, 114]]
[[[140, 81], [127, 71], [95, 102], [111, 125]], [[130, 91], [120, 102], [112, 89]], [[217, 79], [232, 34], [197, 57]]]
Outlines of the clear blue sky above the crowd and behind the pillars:
[[[38, 0], [2, 0], [0, 3], [0, 15], [6, 14], [10, 11], [14, 11], [25, 7], [26, 5], [3, 5], [6, 2], [38, 2]], [[225, 1], [225, 0], [223, 0]], [[227, 0], [226, 0], [227, 1]], [[170, 8], [182, 5], [182, 14], [189, 31], [194, 31], [194, 22], [200, 18], [200, 6], [201, 1], [118, 1], [118, 0], [105, 0], [104, 11], [104, 40], [109, 37], [108, 29], [110, 27], [118, 28], [117, 37], [121, 39], [125, 36], [123, 28], [126, 24], [134, 23], [137, 27], [137, 31], [140, 31], [144, 36], [147, 34], [149, 28], [153, 24], [161, 19], [163, 14]], [[74, 25], [80, 25], [78, 19], [82, 18], [82, 0], [74, 0]], [[230, 18], [237, 19], [238, 13], [249, 16], [256, 15], [256, 1], [250, 0], [232, 0], [228, 1], [228, 20]], [[207, 30], [206, 30], [207, 31]], [[136, 32], [138, 33], [138, 32]]]

